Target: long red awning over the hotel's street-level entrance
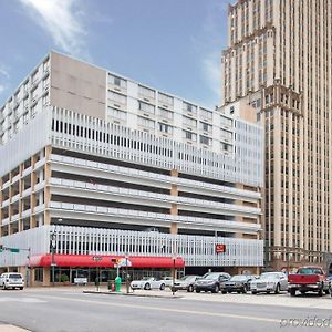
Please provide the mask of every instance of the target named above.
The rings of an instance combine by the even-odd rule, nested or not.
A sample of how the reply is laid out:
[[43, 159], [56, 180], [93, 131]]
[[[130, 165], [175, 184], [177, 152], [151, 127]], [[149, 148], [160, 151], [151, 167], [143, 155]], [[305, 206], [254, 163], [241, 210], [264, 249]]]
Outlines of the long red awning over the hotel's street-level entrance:
[[[102, 256], [102, 255], [54, 255], [54, 263], [61, 268], [114, 268], [114, 259], [124, 259], [124, 256]], [[175, 260], [173, 257], [155, 256], [128, 256], [132, 268], [184, 268], [185, 261], [181, 257]], [[32, 256], [28, 266], [30, 267], [50, 267], [52, 257], [48, 255]]]

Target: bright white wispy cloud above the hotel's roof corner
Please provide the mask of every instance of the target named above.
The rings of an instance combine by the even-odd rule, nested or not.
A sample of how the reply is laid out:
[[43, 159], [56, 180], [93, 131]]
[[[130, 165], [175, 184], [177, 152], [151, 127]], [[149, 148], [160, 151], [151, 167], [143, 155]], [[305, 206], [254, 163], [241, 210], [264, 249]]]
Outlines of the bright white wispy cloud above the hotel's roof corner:
[[[56, 46], [66, 53], [89, 58], [82, 9], [77, 0], [20, 0], [34, 22], [45, 29]], [[38, 17], [35, 17], [38, 14]]]

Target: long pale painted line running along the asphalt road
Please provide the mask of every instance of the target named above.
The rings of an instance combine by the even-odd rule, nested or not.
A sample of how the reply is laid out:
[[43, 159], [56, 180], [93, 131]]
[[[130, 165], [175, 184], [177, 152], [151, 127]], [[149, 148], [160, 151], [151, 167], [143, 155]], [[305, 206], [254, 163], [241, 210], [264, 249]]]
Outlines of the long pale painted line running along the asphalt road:
[[52, 295], [41, 295], [41, 297], [48, 298], [48, 299], [54, 299], [54, 300], [65, 300], [65, 301], [84, 302], [84, 303], [91, 303], [91, 304], [101, 304], [101, 305], [106, 305], [106, 307], [145, 309], [145, 310], [165, 311], [165, 312], [174, 312], [174, 313], [188, 313], [188, 314], [218, 317], [218, 318], [230, 318], [230, 319], [236, 319], [236, 320], [241, 319], [241, 320], [261, 321], [261, 322], [269, 322], [269, 323], [280, 323], [280, 320], [278, 320], [278, 319], [251, 317], [251, 315], [243, 315], [243, 314], [172, 309], [172, 308], [157, 308], [157, 307], [151, 307], [151, 305], [137, 305], [137, 304], [124, 304], [124, 303], [110, 303], [110, 302], [102, 302], [102, 301], [94, 301], [94, 300], [62, 298], [62, 297], [52, 297]]

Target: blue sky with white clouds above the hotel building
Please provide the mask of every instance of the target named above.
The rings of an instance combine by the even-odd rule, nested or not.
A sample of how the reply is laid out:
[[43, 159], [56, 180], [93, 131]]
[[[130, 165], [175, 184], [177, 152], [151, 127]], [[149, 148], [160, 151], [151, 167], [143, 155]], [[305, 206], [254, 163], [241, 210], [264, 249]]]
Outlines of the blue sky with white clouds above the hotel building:
[[50, 50], [207, 107], [228, 0], [0, 0], [0, 105]]

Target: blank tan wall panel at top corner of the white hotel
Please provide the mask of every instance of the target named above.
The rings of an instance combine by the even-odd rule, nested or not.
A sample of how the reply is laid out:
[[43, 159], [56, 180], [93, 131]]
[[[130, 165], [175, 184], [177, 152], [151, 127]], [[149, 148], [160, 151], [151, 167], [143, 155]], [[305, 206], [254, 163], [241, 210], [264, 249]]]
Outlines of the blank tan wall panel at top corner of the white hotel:
[[106, 71], [51, 52], [51, 105], [105, 120]]

